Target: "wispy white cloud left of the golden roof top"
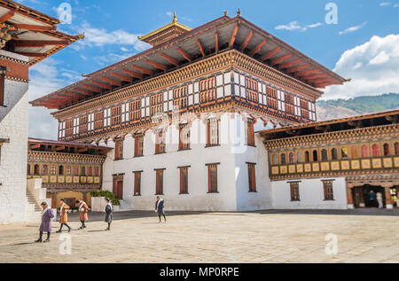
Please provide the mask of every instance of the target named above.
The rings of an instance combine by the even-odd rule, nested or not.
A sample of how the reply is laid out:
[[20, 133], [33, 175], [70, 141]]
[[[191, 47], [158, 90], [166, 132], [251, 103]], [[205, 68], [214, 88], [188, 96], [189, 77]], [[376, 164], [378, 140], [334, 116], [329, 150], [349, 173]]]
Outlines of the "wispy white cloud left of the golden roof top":
[[84, 46], [102, 47], [105, 45], [129, 45], [136, 51], [145, 51], [150, 47], [149, 44], [138, 40], [138, 35], [130, 34], [122, 29], [108, 31], [105, 28], [91, 27], [90, 24], [84, 23], [79, 32], [84, 33], [85, 38], [72, 45], [75, 50], [80, 50]]

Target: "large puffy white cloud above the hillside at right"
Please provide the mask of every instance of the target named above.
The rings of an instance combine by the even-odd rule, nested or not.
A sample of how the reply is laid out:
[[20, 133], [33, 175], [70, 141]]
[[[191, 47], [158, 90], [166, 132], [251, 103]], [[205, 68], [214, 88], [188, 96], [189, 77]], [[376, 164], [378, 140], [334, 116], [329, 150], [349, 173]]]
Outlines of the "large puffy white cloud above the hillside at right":
[[399, 34], [372, 36], [345, 51], [333, 69], [351, 82], [328, 87], [323, 98], [355, 98], [399, 93]]

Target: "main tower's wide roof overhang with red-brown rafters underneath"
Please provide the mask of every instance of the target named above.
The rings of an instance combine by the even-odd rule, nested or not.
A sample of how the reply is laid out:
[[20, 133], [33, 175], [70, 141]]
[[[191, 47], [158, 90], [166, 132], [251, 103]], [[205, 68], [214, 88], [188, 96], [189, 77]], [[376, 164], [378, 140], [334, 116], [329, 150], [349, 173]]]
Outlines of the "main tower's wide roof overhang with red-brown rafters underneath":
[[242, 17], [225, 15], [129, 59], [85, 75], [86, 79], [35, 99], [31, 104], [49, 109], [66, 108], [231, 49], [273, 67], [313, 90], [347, 81]]

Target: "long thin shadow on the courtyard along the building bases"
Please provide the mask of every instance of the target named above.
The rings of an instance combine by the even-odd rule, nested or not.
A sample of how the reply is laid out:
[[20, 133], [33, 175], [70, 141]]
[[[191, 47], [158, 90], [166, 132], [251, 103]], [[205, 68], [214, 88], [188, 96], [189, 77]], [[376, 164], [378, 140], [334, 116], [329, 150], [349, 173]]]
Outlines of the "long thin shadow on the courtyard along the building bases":
[[[376, 215], [376, 216], [399, 216], [399, 208], [387, 210], [378, 208], [364, 208], [353, 210], [262, 210], [253, 212], [183, 212], [183, 211], [166, 211], [168, 217], [181, 215], [238, 215], [244, 216], [248, 214], [259, 215]], [[79, 214], [73, 213], [68, 215], [70, 222], [79, 222]], [[113, 220], [129, 220], [135, 218], [151, 218], [153, 222], [158, 223], [158, 216], [153, 211], [127, 211], [113, 213]], [[104, 213], [89, 213], [89, 222], [103, 222]], [[162, 219], [163, 221], [163, 219]]]

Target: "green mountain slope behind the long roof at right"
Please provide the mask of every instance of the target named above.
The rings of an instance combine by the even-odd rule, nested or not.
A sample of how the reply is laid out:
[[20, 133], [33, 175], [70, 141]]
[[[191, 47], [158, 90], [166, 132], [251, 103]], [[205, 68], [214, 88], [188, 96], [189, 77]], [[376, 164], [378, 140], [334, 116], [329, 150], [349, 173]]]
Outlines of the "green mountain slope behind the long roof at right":
[[344, 118], [399, 108], [399, 94], [317, 101], [317, 120]]

